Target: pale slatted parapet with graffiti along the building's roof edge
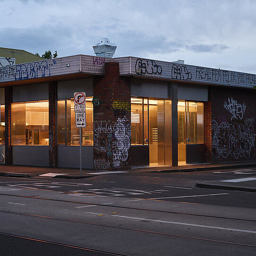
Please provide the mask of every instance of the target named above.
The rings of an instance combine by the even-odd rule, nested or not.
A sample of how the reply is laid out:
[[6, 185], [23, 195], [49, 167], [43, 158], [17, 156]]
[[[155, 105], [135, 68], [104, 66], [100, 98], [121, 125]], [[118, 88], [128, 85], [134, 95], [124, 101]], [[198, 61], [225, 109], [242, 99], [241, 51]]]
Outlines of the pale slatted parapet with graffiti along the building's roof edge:
[[74, 73], [105, 73], [105, 63], [119, 63], [120, 75], [155, 77], [171, 81], [253, 88], [256, 74], [179, 64], [137, 57], [104, 58], [73, 55], [0, 68], [0, 83]]

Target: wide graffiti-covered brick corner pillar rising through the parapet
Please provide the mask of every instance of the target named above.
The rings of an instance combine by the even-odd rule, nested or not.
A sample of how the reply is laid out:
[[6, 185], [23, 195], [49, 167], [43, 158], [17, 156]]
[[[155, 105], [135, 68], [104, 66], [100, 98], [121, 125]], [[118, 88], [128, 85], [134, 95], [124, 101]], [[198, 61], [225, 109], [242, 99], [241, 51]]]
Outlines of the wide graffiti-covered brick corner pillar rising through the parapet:
[[95, 77], [93, 96], [93, 162], [95, 169], [130, 168], [131, 86], [130, 78], [119, 76], [118, 63], [106, 63], [105, 75]]

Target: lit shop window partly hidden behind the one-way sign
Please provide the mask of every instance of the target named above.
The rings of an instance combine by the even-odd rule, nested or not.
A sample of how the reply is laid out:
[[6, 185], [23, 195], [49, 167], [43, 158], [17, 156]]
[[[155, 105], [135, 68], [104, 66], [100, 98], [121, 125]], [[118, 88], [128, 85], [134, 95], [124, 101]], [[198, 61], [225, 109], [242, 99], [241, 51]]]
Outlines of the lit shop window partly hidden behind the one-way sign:
[[[93, 146], [92, 98], [86, 97], [86, 128], [82, 128], [82, 145]], [[75, 127], [74, 99], [57, 101], [57, 143], [79, 146], [79, 128]]]

